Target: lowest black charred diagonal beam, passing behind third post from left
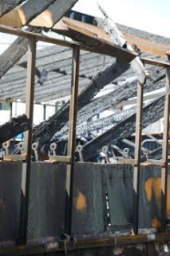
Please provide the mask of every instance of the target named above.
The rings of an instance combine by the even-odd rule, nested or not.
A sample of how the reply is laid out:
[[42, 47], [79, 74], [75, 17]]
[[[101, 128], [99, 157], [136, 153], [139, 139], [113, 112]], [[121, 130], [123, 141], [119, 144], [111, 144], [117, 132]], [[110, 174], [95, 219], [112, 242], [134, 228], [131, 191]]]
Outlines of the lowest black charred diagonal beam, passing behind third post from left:
[[[143, 110], [142, 127], [145, 128], [149, 124], [156, 122], [164, 116], [164, 96], [156, 99]], [[109, 146], [116, 144], [124, 138], [128, 138], [135, 132], [136, 128], [136, 114], [125, 118], [124, 121], [119, 122], [117, 126], [107, 130], [101, 136], [93, 139], [85, 144], [82, 149], [83, 158], [88, 161], [90, 157], [100, 153], [102, 146]]]

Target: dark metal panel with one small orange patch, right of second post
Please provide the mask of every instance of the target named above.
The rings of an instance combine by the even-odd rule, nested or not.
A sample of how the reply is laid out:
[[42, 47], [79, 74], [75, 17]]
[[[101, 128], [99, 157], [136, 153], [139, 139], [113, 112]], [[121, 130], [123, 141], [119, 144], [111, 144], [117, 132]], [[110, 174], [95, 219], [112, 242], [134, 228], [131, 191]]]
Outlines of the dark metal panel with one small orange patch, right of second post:
[[100, 164], [75, 164], [73, 191], [73, 234], [105, 231]]

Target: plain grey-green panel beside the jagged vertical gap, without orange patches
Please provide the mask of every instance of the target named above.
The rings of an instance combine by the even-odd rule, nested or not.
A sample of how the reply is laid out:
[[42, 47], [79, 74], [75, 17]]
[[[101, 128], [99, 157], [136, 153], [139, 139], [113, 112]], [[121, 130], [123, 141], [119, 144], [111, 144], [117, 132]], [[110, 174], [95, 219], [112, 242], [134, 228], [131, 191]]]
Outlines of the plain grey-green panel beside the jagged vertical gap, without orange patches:
[[132, 222], [132, 166], [105, 165], [111, 225]]

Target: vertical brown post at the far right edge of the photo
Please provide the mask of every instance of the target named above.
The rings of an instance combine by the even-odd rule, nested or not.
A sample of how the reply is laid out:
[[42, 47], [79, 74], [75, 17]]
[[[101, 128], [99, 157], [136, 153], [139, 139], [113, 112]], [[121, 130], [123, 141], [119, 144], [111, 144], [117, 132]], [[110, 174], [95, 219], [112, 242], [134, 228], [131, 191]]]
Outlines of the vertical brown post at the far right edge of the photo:
[[170, 114], [170, 68], [166, 70], [165, 102], [164, 102], [164, 135], [162, 147], [162, 160], [165, 162], [161, 168], [161, 231], [166, 231], [167, 212], [167, 179], [168, 179], [168, 139]]

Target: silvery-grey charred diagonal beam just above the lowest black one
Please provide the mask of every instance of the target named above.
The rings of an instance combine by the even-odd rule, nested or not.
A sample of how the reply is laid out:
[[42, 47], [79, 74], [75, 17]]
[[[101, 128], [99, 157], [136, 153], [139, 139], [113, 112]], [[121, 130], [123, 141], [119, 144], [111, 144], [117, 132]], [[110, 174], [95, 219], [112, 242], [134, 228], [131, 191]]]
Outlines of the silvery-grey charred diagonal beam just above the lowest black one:
[[[165, 71], [162, 68], [152, 68], [149, 70], [149, 76], [146, 79], [144, 84], [144, 93], [150, 92], [152, 90], [157, 90], [163, 88], [165, 85]], [[125, 83], [125, 85], [118, 87], [116, 90], [110, 94], [106, 94], [101, 98], [97, 98], [93, 102], [90, 102], [88, 105], [81, 108], [77, 114], [77, 130], [79, 126], [87, 121], [89, 118], [100, 114], [101, 112], [117, 105], [120, 102], [128, 100], [136, 96], [137, 81], [132, 83]], [[68, 122], [65, 123], [65, 126], [54, 134], [54, 138], [58, 135], [67, 133], [69, 129]]]

